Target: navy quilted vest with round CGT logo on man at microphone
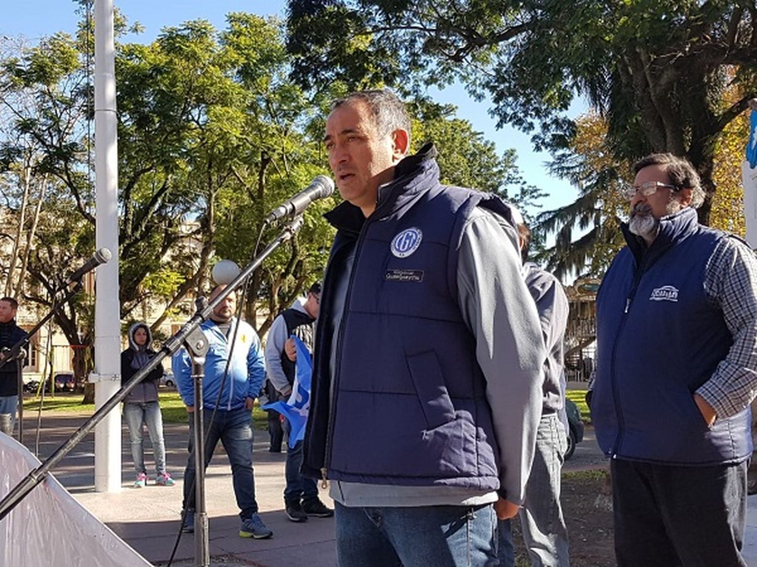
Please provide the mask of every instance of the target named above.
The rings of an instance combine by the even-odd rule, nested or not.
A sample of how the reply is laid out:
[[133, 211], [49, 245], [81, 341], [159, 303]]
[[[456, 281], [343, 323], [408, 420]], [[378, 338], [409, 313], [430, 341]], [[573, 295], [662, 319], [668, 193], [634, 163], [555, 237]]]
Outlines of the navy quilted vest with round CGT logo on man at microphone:
[[[403, 160], [369, 218], [349, 203], [330, 213], [339, 231], [316, 332], [303, 466], [310, 476], [327, 469], [329, 479], [347, 482], [499, 487], [484, 376], [457, 299], [456, 256], [475, 206], [505, 218], [509, 209], [497, 197], [441, 186], [432, 156]], [[353, 247], [333, 336], [330, 294]]]

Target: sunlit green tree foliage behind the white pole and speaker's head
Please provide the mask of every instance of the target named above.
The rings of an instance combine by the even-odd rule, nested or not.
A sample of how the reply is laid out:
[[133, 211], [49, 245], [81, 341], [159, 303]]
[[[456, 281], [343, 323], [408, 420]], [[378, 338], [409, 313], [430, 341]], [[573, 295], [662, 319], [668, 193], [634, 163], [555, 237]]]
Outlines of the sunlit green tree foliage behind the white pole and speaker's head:
[[[81, 5], [86, 14], [91, 5]], [[329, 101], [349, 85], [334, 82], [306, 93], [289, 79], [292, 58], [280, 22], [235, 13], [227, 23], [219, 31], [207, 21], [189, 21], [167, 26], [147, 45], [116, 46], [123, 320], [162, 305], [156, 329], [166, 317], [186, 314], [188, 296], [210, 287], [213, 262], [246, 265], [259, 237], [267, 243], [278, 234], [278, 228], [263, 230], [266, 213], [329, 172], [324, 117]], [[127, 28], [123, 16], [118, 25]], [[39, 293], [28, 298], [45, 305], [61, 281], [59, 267], [76, 265], [95, 246], [91, 48], [84, 21], [76, 39], [59, 34], [0, 60], [2, 108], [10, 116], [0, 133], [0, 175], [7, 174], [0, 190], [7, 189], [7, 203], [20, 206], [24, 171], [45, 185], [39, 230], [30, 242], [29, 283]], [[411, 109], [417, 139], [433, 139], [441, 151], [446, 182], [522, 205], [539, 197], [519, 177], [515, 154], [497, 156], [494, 144], [456, 119], [452, 108], [418, 98]], [[333, 237], [322, 213], [338, 200], [313, 204], [299, 234], [252, 277], [246, 312], [261, 331], [322, 277]], [[85, 342], [91, 338], [90, 303], [77, 296], [59, 321], [73, 344], [81, 332]]]

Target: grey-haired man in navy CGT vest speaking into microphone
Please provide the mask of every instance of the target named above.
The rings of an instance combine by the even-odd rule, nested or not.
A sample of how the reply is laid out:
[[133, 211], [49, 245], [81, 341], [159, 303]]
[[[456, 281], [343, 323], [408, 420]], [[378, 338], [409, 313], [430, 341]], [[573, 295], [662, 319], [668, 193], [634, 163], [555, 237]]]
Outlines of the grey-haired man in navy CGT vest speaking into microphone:
[[[503, 201], [413, 156], [391, 91], [336, 101], [344, 203], [316, 327], [303, 472], [331, 481], [339, 565], [488, 565], [524, 497], [546, 349]], [[495, 514], [496, 510], [496, 514]]]

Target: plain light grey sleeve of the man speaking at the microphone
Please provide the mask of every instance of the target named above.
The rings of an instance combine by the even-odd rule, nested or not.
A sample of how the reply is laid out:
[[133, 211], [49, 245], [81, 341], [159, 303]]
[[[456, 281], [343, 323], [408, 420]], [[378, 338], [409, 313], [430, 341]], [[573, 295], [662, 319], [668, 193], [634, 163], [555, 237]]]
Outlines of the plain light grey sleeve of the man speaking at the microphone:
[[460, 244], [457, 285], [486, 379], [500, 449], [500, 496], [520, 504], [534, 460], [547, 354], [514, 233], [494, 214], [477, 209]]

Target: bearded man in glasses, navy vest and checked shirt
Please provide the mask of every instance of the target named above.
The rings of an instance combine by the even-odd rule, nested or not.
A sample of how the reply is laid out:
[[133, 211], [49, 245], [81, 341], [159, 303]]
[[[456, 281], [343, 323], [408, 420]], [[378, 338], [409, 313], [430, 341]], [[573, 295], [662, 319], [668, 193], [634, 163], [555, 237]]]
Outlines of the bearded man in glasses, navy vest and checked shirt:
[[612, 457], [618, 565], [746, 565], [757, 261], [699, 225], [687, 160], [634, 165], [628, 246], [597, 295], [591, 417]]

